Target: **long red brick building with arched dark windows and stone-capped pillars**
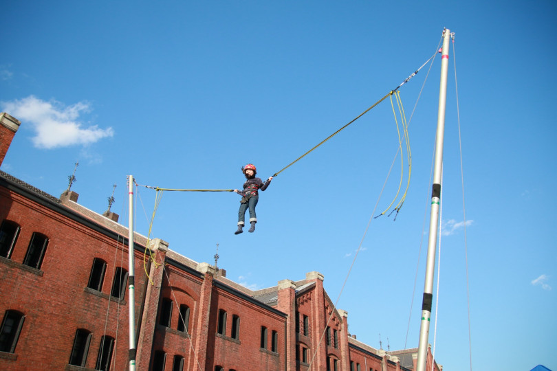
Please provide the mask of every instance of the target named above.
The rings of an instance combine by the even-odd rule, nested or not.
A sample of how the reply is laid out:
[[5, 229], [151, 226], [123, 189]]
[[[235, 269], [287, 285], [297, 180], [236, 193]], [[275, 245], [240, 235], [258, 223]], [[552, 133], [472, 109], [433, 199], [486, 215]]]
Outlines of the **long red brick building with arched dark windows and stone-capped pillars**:
[[[20, 123], [0, 123], [1, 164]], [[129, 369], [128, 229], [77, 201], [0, 171], [0, 370]], [[137, 370], [415, 369], [417, 349], [351, 337], [318, 272], [251, 291], [164, 240], [133, 245]]]

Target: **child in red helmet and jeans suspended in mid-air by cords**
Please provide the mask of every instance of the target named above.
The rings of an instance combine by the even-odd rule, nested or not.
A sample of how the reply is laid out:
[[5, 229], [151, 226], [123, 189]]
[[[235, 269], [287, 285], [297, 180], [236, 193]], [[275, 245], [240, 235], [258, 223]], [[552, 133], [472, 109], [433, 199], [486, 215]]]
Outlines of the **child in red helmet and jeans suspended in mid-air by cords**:
[[255, 205], [257, 205], [257, 201], [259, 200], [259, 192], [258, 190], [266, 190], [273, 177], [270, 177], [263, 183], [261, 179], [256, 178], [255, 175], [257, 174], [255, 166], [253, 164], [248, 164], [246, 166], [242, 166], [243, 175], [245, 175], [245, 179], [248, 179], [243, 183], [243, 191], [234, 190], [237, 194], [242, 196], [240, 201], [240, 210], [238, 211], [238, 230], [234, 232], [234, 234], [241, 234], [243, 232], [242, 227], [244, 226], [244, 219], [245, 219], [245, 211], [250, 210], [250, 224], [251, 227], [248, 232], [254, 232], [255, 230], [255, 223], [257, 223], [257, 217], [255, 215]]

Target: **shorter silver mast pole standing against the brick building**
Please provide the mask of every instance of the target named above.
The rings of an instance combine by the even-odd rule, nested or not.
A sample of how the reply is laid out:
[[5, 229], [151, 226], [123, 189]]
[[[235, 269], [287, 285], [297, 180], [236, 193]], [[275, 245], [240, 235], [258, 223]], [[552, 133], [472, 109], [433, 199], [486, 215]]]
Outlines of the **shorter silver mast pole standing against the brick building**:
[[128, 228], [128, 290], [129, 290], [129, 371], [135, 371], [135, 274], [133, 272], [133, 175], [128, 177], [129, 228]]

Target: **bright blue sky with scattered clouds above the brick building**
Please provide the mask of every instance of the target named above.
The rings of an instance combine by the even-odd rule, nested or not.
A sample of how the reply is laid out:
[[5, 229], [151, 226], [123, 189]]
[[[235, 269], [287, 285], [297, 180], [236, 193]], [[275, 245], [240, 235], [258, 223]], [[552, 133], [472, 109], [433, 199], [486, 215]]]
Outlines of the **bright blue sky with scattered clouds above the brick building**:
[[[79, 203], [104, 212], [116, 184], [124, 223], [130, 174], [241, 188], [242, 165], [265, 178], [290, 164], [433, 56], [448, 27], [436, 357], [445, 370], [470, 358], [475, 370], [557, 370], [556, 16], [538, 0], [5, 1], [0, 109], [22, 124], [1, 169], [58, 196], [78, 161]], [[360, 341], [417, 346], [440, 63], [400, 89], [408, 118], [416, 106], [410, 188], [396, 221], [372, 219], [356, 260], [400, 181], [400, 157], [387, 177], [389, 100], [276, 177], [255, 233], [233, 234], [237, 194], [164, 192], [151, 236], [199, 262], [218, 243], [219, 267], [252, 289], [320, 271]], [[147, 234], [155, 192], [138, 194]]]

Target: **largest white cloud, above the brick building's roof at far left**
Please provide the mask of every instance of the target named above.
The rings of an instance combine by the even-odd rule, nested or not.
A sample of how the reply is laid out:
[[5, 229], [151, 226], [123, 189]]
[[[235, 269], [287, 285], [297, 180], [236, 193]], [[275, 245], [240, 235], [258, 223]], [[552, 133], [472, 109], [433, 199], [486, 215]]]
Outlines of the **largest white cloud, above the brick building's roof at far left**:
[[63, 106], [60, 102], [45, 102], [30, 95], [21, 100], [1, 102], [1, 105], [3, 111], [22, 123], [32, 124], [36, 133], [32, 141], [36, 148], [87, 145], [114, 135], [113, 128], [101, 129], [97, 125], [82, 127], [78, 119], [81, 113], [90, 111], [87, 102]]

